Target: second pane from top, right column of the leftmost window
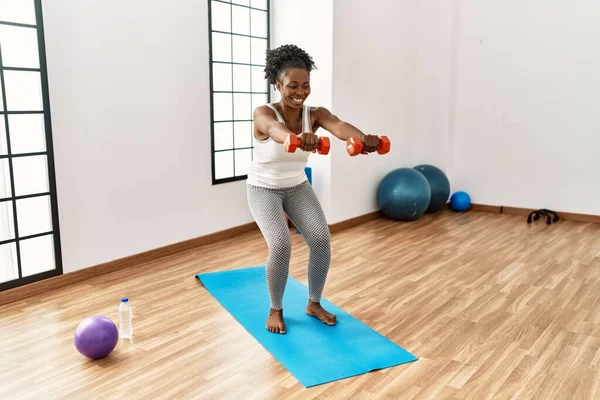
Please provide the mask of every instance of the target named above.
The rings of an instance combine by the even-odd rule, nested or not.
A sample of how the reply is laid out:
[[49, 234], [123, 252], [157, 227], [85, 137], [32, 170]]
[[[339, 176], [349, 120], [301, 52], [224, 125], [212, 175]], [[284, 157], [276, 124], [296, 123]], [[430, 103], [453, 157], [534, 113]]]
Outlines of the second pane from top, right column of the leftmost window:
[[[0, 19], [2, 14], [0, 14]], [[37, 29], [0, 25], [2, 63], [5, 67], [39, 68]]]

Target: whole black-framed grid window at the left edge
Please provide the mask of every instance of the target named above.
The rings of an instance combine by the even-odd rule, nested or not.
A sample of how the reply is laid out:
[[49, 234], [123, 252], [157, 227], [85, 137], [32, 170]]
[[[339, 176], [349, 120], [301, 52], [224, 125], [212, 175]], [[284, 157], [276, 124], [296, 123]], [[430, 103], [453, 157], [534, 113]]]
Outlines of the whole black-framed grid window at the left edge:
[[0, 291], [62, 273], [41, 0], [0, 0]]

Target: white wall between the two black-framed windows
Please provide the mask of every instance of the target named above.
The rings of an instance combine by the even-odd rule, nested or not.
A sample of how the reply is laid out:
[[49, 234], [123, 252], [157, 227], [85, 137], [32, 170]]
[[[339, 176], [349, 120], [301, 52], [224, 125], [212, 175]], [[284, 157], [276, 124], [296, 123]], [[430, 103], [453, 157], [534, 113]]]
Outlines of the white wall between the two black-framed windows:
[[65, 272], [252, 221], [211, 184], [206, 2], [43, 12]]

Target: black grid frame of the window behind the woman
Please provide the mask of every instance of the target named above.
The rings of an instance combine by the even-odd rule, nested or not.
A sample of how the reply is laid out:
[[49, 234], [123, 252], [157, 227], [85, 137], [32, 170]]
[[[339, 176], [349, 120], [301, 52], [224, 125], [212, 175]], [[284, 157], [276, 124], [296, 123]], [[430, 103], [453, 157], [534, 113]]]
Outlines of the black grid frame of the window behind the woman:
[[[265, 0], [266, 1], [266, 5], [267, 5], [267, 9], [261, 9], [261, 8], [256, 8], [256, 7], [252, 7], [252, 2], [251, 0], [249, 0], [249, 6], [246, 5], [242, 5], [242, 4], [237, 4], [237, 3], [233, 3], [230, 1], [226, 1], [226, 0], [207, 0], [208, 1], [208, 53], [209, 53], [209, 83], [210, 83], [210, 150], [211, 150], [211, 178], [212, 178], [212, 185], [219, 185], [219, 184], [223, 184], [223, 183], [230, 183], [230, 182], [237, 182], [237, 181], [243, 181], [246, 180], [248, 178], [247, 174], [244, 175], [239, 175], [239, 176], [235, 176], [235, 150], [246, 150], [249, 149], [254, 150], [254, 143], [251, 142], [250, 147], [235, 147], [235, 122], [253, 122], [252, 121], [252, 114], [250, 116], [250, 120], [236, 120], [235, 116], [233, 115], [233, 113], [235, 112], [235, 108], [232, 106], [232, 120], [231, 121], [215, 121], [215, 106], [214, 106], [214, 94], [215, 93], [223, 93], [220, 91], [215, 91], [214, 87], [213, 87], [213, 65], [215, 63], [217, 64], [227, 64], [227, 65], [231, 65], [232, 68], [234, 65], [243, 65], [243, 66], [249, 66], [251, 67], [263, 67], [263, 65], [257, 65], [257, 64], [252, 64], [252, 59], [250, 59], [249, 63], [239, 63], [239, 62], [234, 62], [233, 61], [233, 47], [231, 48], [231, 53], [232, 53], [232, 57], [231, 57], [231, 61], [230, 62], [221, 62], [221, 61], [214, 61], [213, 60], [213, 40], [212, 40], [212, 35], [213, 33], [223, 33], [223, 34], [228, 34], [230, 36], [242, 36], [242, 37], [248, 37], [250, 39], [252, 38], [257, 38], [257, 39], [266, 39], [267, 42], [267, 50], [269, 50], [271, 48], [271, 1], [270, 0]], [[223, 32], [220, 30], [213, 30], [212, 28], [212, 2], [215, 1], [217, 3], [223, 3], [223, 4], [228, 4], [231, 7], [233, 6], [237, 6], [237, 7], [243, 7], [243, 8], [247, 8], [250, 10], [250, 13], [252, 12], [252, 10], [258, 10], [258, 11], [262, 11], [262, 12], [266, 12], [267, 14], [267, 36], [266, 38], [264, 37], [258, 37], [258, 36], [252, 36], [252, 32], [250, 32], [250, 34], [245, 35], [245, 34], [239, 34], [239, 33], [232, 33], [232, 32]], [[230, 15], [231, 16], [231, 15]], [[231, 17], [233, 18], [233, 17]], [[233, 24], [232, 24], [233, 25]], [[233, 26], [230, 27], [231, 30], [233, 30]], [[251, 24], [250, 24], [250, 29], [251, 29]], [[266, 55], [265, 55], [266, 56]], [[250, 57], [252, 57], [252, 53], [250, 53]], [[271, 89], [270, 86], [267, 84], [266, 85], [266, 96], [267, 96], [267, 102], [271, 101]], [[233, 88], [233, 80], [232, 80], [232, 87], [231, 87], [231, 95], [234, 96], [236, 93], [249, 93], [251, 96], [251, 107], [252, 107], [252, 94], [256, 93], [256, 94], [262, 94], [262, 92], [242, 92], [242, 91], [236, 91]], [[252, 112], [254, 111], [254, 109], [251, 110]], [[233, 124], [233, 130], [232, 130], [232, 134], [234, 137], [233, 140], [233, 147], [231, 149], [226, 149], [226, 150], [216, 150], [215, 149], [215, 122], [231, 122]], [[223, 152], [223, 151], [232, 151], [234, 154], [233, 157], [233, 174], [234, 176], [230, 176], [230, 177], [226, 177], [226, 178], [216, 178], [216, 161], [215, 161], [215, 156], [216, 153], [219, 152]]]

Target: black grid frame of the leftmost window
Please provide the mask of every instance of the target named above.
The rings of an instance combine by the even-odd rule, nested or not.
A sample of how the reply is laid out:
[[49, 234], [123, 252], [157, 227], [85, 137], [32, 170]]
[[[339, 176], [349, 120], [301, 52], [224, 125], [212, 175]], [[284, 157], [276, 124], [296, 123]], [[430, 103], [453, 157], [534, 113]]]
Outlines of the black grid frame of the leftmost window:
[[[44, 22], [42, 15], [42, 3], [41, 0], [32, 0], [35, 9], [35, 25], [31, 24], [23, 24], [23, 23], [15, 23], [15, 22], [7, 22], [0, 20], [0, 24], [8, 25], [8, 26], [17, 26], [24, 28], [33, 28], [37, 31], [37, 40], [38, 40], [38, 55], [39, 55], [39, 68], [17, 68], [17, 67], [4, 67], [2, 63], [2, 54], [0, 53], [0, 90], [2, 91], [2, 102], [4, 104], [3, 111], [0, 111], [0, 116], [4, 119], [4, 127], [6, 133], [6, 140], [8, 146], [8, 153], [6, 155], [0, 156], [1, 160], [8, 160], [9, 164], [9, 175], [10, 175], [10, 185], [11, 185], [11, 196], [2, 198], [2, 202], [12, 202], [12, 211], [13, 211], [13, 223], [14, 223], [14, 239], [4, 240], [0, 242], [1, 245], [6, 245], [10, 243], [15, 243], [16, 247], [16, 255], [17, 255], [17, 269], [18, 269], [18, 277], [17, 279], [10, 280], [7, 282], [0, 283], [0, 293], [13, 289], [19, 286], [28, 285], [34, 282], [38, 282], [44, 279], [48, 279], [51, 277], [59, 276], [63, 274], [63, 262], [62, 262], [62, 251], [61, 251], [61, 241], [60, 241], [60, 226], [58, 220], [58, 200], [56, 194], [56, 174], [55, 174], [55, 162], [54, 162], [54, 147], [52, 140], [52, 121], [51, 121], [51, 112], [50, 112], [50, 95], [48, 89], [48, 70], [47, 70], [47, 61], [46, 61], [46, 42], [45, 42], [45, 34], [44, 34]], [[0, 44], [1, 46], [1, 44]], [[42, 111], [9, 111], [7, 108], [7, 99], [6, 99], [6, 83], [5, 83], [5, 71], [32, 71], [40, 73], [41, 80], [41, 94], [42, 94]], [[16, 114], [43, 114], [44, 117], [44, 130], [45, 130], [45, 141], [46, 141], [46, 151], [43, 152], [34, 152], [34, 153], [19, 153], [17, 155], [11, 154], [11, 144], [10, 144], [10, 126], [8, 122], [9, 115]], [[48, 179], [48, 188], [49, 191], [45, 193], [35, 193], [24, 196], [17, 196], [15, 193], [15, 177], [14, 177], [14, 169], [13, 169], [13, 160], [15, 158], [21, 157], [29, 157], [36, 155], [44, 155], [47, 158], [47, 179]], [[18, 223], [18, 215], [17, 215], [17, 201], [23, 200], [27, 198], [35, 198], [35, 197], [50, 197], [50, 211], [51, 211], [51, 219], [52, 219], [52, 230], [49, 232], [39, 233], [30, 236], [19, 236], [19, 223]], [[50, 271], [45, 271], [42, 273], [30, 275], [27, 277], [23, 277], [22, 271], [22, 257], [21, 257], [21, 249], [20, 242], [27, 239], [33, 239], [36, 237], [43, 236], [52, 236], [53, 244], [54, 244], [54, 269]]]

